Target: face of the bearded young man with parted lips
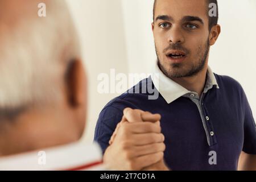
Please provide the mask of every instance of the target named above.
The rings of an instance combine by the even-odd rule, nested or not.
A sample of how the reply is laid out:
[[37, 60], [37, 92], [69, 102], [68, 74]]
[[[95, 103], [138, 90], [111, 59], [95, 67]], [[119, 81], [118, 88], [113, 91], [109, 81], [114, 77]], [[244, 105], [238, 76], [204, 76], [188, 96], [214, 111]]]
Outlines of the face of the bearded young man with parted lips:
[[209, 52], [208, 1], [157, 0], [153, 26], [156, 54], [170, 78], [196, 75]]

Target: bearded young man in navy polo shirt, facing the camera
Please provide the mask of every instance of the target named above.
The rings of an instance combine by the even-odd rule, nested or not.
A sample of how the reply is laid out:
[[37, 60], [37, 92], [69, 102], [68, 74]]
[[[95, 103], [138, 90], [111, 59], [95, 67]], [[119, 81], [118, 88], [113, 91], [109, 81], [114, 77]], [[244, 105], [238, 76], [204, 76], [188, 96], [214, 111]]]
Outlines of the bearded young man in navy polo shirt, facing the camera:
[[[101, 111], [94, 139], [105, 151], [104, 161], [110, 166], [122, 167], [112, 160], [116, 152], [119, 162], [130, 164], [126, 169], [236, 170], [243, 151], [240, 169], [256, 169], [256, 127], [245, 92], [236, 80], [217, 75], [208, 66], [210, 46], [221, 32], [218, 12], [209, 16], [211, 3], [217, 6], [213, 0], [155, 1], [152, 31], [158, 61], [151, 77], [134, 88], [154, 88], [159, 97], [152, 100], [150, 92], [129, 90]], [[162, 131], [158, 133], [165, 138], [164, 161], [158, 159], [139, 167], [134, 162], [148, 153], [163, 151], [156, 147], [162, 140], [131, 140], [135, 134], [148, 135], [127, 127], [135, 126], [134, 119], [123, 117], [126, 107], [137, 109], [129, 109], [129, 113], [137, 115], [138, 121], [145, 121], [141, 110], [161, 115]], [[155, 150], [147, 152], [149, 144], [154, 144]], [[137, 154], [138, 146], [143, 152], [130, 155]]]

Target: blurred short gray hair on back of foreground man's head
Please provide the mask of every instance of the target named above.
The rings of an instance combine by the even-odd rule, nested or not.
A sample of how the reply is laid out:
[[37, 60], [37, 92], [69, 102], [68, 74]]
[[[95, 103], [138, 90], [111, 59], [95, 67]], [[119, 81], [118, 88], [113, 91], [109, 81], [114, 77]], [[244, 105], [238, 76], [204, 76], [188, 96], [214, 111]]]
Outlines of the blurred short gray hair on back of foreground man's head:
[[15, 24], [0, 19], [0, 110], [60, 100], [63, 73], [80, 56], [67, 5], [63, 0], [44, 2], [46, 17], [40, 18], [35, 6], [35, 14]]

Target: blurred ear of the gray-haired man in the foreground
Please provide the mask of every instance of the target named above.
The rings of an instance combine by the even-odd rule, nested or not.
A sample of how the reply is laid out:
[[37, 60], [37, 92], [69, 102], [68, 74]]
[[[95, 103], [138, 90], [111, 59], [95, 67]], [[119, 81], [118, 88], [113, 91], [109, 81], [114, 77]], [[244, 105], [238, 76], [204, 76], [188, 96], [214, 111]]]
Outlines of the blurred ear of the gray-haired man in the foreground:
[[86, 105], [86, 77], [81, 60], [75, 59], [69, 64], [66, 81], [69, 105], [73, 107]]

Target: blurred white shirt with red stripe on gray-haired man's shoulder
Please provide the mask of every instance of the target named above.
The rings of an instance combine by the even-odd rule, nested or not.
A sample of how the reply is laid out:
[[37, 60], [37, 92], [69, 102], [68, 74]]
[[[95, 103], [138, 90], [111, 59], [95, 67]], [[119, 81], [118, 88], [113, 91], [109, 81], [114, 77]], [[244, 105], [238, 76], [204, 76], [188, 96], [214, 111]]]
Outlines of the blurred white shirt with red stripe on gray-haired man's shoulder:
[[10, 171], [74, 171], [104, 170], [98, 144], [76, 142], [45, 150], [26, 152], [0, 158], [0, 170]]

